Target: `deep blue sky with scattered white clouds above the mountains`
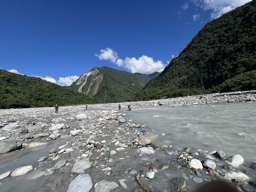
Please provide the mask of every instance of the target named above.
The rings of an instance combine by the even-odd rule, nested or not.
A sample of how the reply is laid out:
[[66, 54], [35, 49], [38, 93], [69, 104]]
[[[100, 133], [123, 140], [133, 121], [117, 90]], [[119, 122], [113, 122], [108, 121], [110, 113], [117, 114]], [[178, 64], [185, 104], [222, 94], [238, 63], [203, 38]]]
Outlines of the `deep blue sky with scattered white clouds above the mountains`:
[[94, 67], [161, 71], [207, 22], [249, 1], [1, 1], [0, 68], [60, 85]]

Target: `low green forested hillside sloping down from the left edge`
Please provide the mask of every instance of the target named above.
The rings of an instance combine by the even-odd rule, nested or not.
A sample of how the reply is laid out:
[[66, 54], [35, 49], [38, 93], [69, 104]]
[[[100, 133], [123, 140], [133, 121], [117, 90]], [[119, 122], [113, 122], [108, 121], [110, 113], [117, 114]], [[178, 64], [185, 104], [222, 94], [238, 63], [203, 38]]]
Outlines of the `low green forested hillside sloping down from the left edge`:
[[53, 107], [97, 100], [40, 78], [0, 69], [0, 108]]

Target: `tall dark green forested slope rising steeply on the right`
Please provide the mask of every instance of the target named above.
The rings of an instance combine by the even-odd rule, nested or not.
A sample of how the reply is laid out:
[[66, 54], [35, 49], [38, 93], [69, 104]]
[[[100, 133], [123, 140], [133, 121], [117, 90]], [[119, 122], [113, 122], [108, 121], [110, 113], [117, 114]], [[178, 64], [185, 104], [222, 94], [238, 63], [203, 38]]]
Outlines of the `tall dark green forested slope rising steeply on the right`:
[[256, 69], [255, 47], [256, 0], [253, 0], [207, 23], [136, 99], [256, 89], [255, 83], [246, 83], [255, 78], [255, 72], [247, 73]]

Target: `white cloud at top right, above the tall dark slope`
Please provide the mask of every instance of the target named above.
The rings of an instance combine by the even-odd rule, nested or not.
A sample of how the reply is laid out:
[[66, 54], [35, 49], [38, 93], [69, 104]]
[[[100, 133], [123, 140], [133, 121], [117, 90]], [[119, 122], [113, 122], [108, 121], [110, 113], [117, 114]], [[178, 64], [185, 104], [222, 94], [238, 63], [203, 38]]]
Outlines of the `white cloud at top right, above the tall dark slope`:
[[252, 0], [190, 0], [190, 2], [201, 7], [204, 11], [212, 10], [211, 19], [216, 19], [250, 1]]

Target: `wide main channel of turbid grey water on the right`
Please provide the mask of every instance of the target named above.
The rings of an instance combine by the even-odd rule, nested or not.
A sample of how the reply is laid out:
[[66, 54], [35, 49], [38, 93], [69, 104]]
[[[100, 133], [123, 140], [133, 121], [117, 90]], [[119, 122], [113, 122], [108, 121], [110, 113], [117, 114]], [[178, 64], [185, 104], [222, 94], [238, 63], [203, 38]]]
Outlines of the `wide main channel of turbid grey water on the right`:
[[[182, 107], [134, 106], [127, 116], [159, 135], [154, 143], [173, 148], [221, 150], [256, 161], [256, 103]], [[146, 129], [147, 131], [147, 129]], [[164, 135], [162, 135], [164, 134]]]

